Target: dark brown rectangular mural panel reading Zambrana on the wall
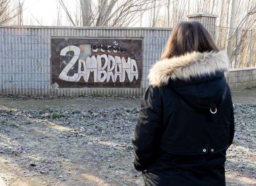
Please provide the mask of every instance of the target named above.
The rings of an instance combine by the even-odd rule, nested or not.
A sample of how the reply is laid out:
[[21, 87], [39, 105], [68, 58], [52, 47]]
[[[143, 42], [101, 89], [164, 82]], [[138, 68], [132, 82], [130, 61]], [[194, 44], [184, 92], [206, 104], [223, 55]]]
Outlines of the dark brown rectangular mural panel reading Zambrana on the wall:
[[142, 40], [51, 39], [52, 84], [140, 87]]

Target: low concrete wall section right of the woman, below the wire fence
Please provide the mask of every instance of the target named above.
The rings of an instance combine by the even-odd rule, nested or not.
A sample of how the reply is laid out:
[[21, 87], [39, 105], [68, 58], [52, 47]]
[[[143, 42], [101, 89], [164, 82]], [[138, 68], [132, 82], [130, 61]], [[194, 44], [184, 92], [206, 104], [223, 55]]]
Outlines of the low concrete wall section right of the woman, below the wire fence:
[[231, 90], [241, 90], [256, 85], [256, 68], [229, 69], [226, 75]]

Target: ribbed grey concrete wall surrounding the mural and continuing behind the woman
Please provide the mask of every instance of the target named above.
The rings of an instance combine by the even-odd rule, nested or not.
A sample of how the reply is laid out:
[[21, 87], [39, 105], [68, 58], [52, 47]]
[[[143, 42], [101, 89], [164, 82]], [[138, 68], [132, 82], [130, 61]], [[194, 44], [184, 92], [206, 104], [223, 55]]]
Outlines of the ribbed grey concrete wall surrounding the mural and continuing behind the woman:
[[[142, 95], [171, 28], [0, 26], [0, 95]], [[51, 38], [142, 39], [140, 88], [59, 88], [51, 82]], [[231, 90], [256, 85], [256, 68], [231, 69]]]

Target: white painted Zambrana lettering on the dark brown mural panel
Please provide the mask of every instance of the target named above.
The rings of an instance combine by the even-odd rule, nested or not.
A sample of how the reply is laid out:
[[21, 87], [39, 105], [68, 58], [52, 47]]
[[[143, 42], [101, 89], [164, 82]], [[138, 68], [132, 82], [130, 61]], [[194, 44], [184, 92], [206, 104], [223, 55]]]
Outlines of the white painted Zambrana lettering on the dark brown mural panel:
[[[99, 49], [105, 54], [91, 55], [92, 51], [97, 52]], [[93, 45], [91, 48], [90, 44], [83, 44], [79, 48], [70, 45], [63, 48], [60, 55], [65, 56], [69, 51], [73, 51], [74, 56], [68, 63], [63, 61], [66, 66], [59, 75], [61, 80], [78, 82], [83, 77], [83, 80], [88, 82], [91, 73], [93, 73], [94, 82], [109, 82], [110, 79], [116, 82], [117, 78], [120, 82], [124, 82], [126, 77], [132, 82], [134, 77], [136, 80], [139, 78], [137, 63], [134, 59], [128, 57], [126, 60], [124, 57], [115, 56], [117, 52], [124, 52], [119, 47]], [[114, 54], [114, 56], [106, 53]], [[78, 62], [78, 71], [73, 76], [69, 76], [68, 72], [74, 68], [76, 62]]]

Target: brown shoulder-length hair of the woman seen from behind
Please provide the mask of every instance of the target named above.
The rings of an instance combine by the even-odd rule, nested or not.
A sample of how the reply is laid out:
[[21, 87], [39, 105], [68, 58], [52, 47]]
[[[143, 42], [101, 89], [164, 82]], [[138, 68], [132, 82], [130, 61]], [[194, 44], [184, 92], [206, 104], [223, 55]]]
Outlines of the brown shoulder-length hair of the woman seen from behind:
[[196, 20], [181, 21], [173, 32], [162, 51], [161, 60], [181, 56], [193, 51], [220, 51], [206, 28]]

